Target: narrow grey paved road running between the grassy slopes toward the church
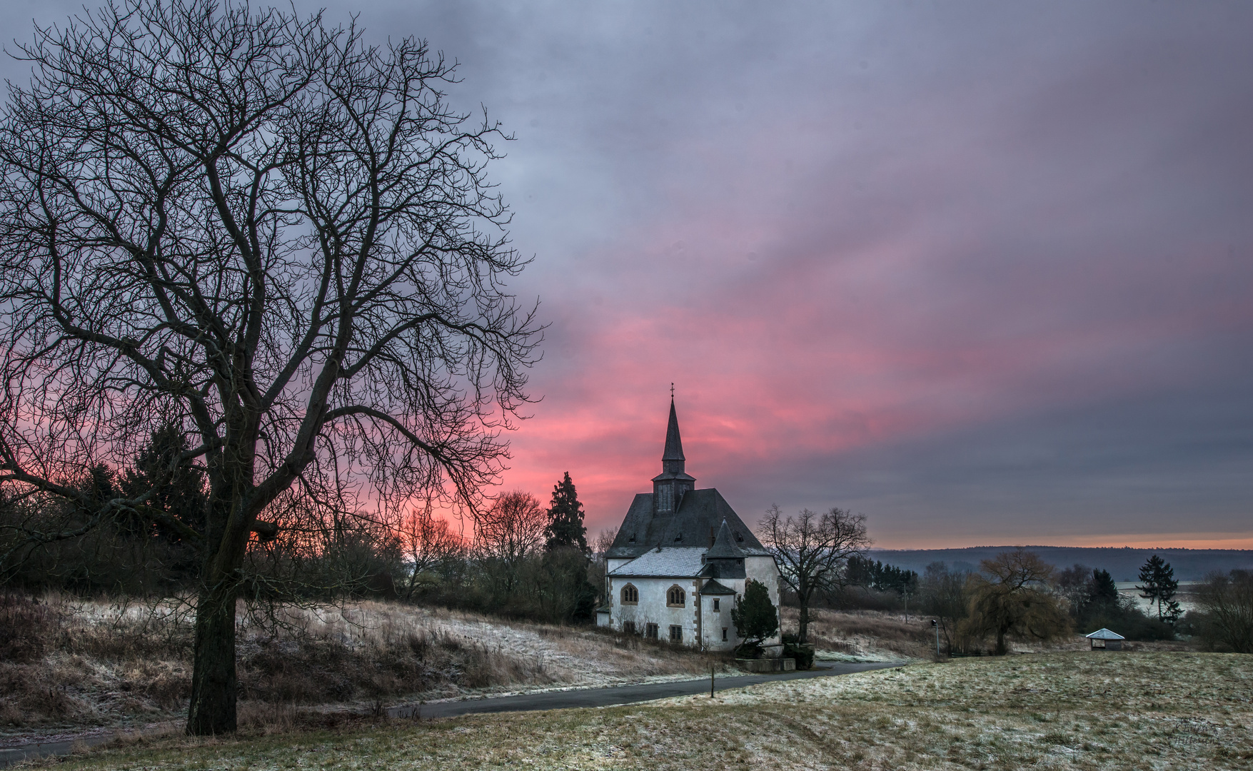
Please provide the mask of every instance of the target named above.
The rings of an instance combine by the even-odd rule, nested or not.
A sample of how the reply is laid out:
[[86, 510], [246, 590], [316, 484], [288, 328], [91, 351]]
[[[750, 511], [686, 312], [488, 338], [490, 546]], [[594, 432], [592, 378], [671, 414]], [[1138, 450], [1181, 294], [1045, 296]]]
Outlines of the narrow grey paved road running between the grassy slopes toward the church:
[[[833, 674], [851, 674], [853, 672], [866, 672], [868, 669], [885, 669], [898, 667], [901, 662], [887, 663], [832, 663], [816, 662], [816, 667], [808, 672], [788, 672], [786, 674], [738, 674], [733, 677], [719, 677], [715, 681], [715, 691], [728, 688], [743, 688], [758, 683], [774, 682], [781, 679], [803, 679], [808, 677], [831, 677]], [[639, 686], [615, 686], [610, 688], [575, 688], [570, 691], [549, 691], [546, 693], [523, 693], [519, 696], [497, 696], [494, 698], [470, 698], [465, 701], [442, 701], [430, 705], [402, 705], [387, 710], [391, 717], [455, 717], [457, 715], [471, 715], [484, 712], [525, 712], [530, 710], [574, 710], [579, 707], [611, 707], [615, 705], [630, 705], [657, 698], [669, 698], [672, 696], [692, 696], [694, 693], [708, 693], [708, 679], [683, 679], [664, 683], [644, 683]], [[0, 768], [16, 762], [44, 757], [48, 755], [69, 755], [75, 746], [94, 747], [113, 740], [113, 733], [93, 733], [74, 738], [46, 741], [39, 743], [19, 745], [13, 747], [0, 747]]]

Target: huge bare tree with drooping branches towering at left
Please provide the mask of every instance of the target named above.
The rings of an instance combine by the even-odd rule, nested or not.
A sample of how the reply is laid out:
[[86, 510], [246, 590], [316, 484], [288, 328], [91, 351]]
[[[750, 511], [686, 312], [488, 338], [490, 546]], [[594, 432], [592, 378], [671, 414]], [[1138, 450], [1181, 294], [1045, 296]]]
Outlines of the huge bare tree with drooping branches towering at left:
[[[229, 732], [246, 558], [279, 535], [267, 511], [476, 510], [507, 456], [539, 330], [506, 291], [525, 260], [486, 178], [506, 137], [447, 104], [455, 68], [425, 43], [367, 46], [320, 15], [124, 0], [16, 50], [0, 486], [78, 514], [11, 525], [0, 559], [118, 513], [194, 543], [187, 730]], [[169, 425], [185, 449], [164, 468], [84, 493], [83, 469]], [[188, 464], [203, 520], [162, 505]]]

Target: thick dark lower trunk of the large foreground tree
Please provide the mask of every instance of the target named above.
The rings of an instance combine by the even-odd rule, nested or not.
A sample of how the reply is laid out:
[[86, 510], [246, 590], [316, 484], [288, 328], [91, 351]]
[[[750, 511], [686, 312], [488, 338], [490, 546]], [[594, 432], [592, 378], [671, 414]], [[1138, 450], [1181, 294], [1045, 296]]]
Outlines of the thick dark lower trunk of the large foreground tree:
[[195, 606], [195, 658], [187, 732], [192, 736], [236, 730], [236, 595], [233, 582], [208, 587]]

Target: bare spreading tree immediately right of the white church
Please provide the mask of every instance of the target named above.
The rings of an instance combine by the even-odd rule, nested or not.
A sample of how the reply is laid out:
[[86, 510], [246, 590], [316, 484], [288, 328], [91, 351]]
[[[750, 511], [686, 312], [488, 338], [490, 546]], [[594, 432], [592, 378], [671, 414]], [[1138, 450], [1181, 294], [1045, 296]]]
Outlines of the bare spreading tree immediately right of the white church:
[[778, 504], [772, 504], [757, 528], [757, 537], [774, 555], [779, 578], [796, 592], [801, 606], [797, 638], [803, 644], [813, 595], [838, 588], [848, 558], [870, 548], [866, 517], [832, 508], [823, 514], [802, 509], [796, 518], [784, 518]]

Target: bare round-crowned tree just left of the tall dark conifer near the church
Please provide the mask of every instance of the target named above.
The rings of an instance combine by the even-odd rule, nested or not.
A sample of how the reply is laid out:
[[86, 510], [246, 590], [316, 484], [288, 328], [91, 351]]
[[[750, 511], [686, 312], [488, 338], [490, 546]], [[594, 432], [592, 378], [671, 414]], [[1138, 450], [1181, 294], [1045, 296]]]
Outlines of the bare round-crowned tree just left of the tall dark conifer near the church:
[[475, 528], [475, 548], [486, 563], [501, 595], [517, 588], [523, 560], [544, 545], [548, 513], [538, 498], [523, 490], [500, 495]]

